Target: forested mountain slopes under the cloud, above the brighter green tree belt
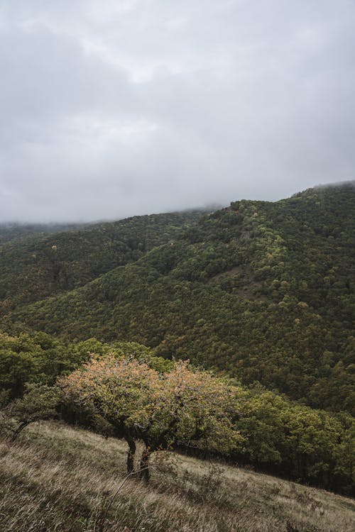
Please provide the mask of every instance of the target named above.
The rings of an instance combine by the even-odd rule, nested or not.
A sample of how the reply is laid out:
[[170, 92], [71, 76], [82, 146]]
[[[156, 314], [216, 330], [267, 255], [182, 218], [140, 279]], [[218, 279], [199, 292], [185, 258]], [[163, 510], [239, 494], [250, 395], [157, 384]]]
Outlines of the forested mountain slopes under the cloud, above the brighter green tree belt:
[[355, 183], [160, 216], [4, 244], [4, 328], [136, 341], [351, 411]]

